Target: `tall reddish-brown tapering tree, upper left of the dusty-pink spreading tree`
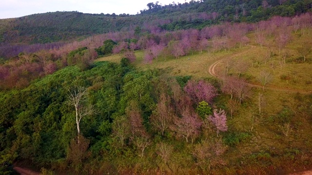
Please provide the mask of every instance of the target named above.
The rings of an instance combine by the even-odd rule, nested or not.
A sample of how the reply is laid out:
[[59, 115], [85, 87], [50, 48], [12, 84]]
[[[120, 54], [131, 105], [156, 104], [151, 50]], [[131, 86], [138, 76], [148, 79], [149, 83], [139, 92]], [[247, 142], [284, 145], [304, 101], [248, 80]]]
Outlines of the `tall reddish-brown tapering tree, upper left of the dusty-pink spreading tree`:
[[165, 93], [160, 94], [159, 102], [156, 106], [155, 113], [151, 116], [151, 121], [155, 128], [159, 129], [161, 135], [169, 128], [173, 121], [173, 109], [170, 106], [170, 101]]

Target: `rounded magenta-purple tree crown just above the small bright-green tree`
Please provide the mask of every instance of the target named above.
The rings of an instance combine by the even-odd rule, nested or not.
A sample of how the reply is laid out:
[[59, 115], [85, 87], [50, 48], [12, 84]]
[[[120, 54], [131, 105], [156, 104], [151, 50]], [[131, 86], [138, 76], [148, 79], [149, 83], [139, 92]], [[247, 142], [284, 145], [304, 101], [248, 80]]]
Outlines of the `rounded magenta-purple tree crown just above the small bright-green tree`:
[[184, 87], [184, 91], [191, 97], [195, 104], [201, 101], [211, 104], [212, 100], [217, 95], [216, 88], [203, 80], [200, 80], [198, 83], [189, 80]]

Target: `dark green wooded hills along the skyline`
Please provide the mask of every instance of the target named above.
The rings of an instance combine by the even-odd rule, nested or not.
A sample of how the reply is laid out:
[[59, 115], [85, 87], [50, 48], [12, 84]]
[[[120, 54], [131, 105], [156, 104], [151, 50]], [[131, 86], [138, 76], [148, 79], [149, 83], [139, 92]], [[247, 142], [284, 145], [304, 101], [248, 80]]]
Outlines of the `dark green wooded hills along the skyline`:
[[275, 15], [295, 16], [311, 11], [312, 0], [201, 0], [157, 2], [138, 15], [49, 12], [20, 18], [0, 19], [1, 43], [49, 43], [95, 34], [134, 30], [146, 32], [197, 28], [228, 21], [256, 22]]

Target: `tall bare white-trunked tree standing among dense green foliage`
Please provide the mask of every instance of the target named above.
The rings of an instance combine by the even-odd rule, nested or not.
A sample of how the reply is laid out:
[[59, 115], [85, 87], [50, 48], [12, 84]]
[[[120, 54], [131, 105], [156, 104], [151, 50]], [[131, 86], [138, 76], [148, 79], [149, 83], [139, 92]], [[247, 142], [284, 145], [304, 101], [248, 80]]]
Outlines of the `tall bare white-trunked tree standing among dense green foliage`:
[[[77, 132], [78, 137], [80, 135], [80, 121], [83, 117], [87, 115], [92, 115], [96, 113], [96, 110], [93, 108], [92, 105], [89, 105], [87, 107], [83, 106], [83, 103], [85, 102], [87, 98], [87, 89], [84, 87], [79, 86], [73, 86], [69, 90], [68, 94], [68, 104], [75, 106], [76, 111], [76, 124], [77, 124]], [[79, 143], [79, 140], [78, 140]]]

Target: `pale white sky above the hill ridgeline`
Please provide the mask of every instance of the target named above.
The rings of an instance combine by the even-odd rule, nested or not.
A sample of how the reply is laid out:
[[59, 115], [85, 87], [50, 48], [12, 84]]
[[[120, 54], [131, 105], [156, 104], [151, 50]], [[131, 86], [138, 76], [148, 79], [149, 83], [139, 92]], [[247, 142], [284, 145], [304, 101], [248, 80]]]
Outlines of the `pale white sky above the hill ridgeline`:
[[185, 0], [0, 0], [0, 19], [56, 11], [135, 15], [140, 10], [147, 9], [146, 5], [149, 2], [156, 1], [162, 5], [168, 5], [173, 1], [185, 2]]

